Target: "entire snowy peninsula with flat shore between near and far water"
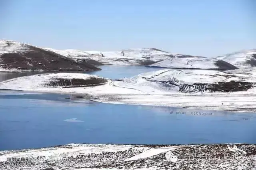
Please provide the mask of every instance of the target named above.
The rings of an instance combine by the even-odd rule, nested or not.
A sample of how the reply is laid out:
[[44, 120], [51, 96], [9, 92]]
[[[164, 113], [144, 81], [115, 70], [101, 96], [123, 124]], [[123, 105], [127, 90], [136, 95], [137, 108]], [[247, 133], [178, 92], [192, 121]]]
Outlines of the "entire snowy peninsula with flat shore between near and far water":
[[9, 79], [0, 89], [89, 94], [90, 100], [106, 103], [255, 111], [256, 69], [234, 72], [164, 69], [120, 80], [48, 73]]

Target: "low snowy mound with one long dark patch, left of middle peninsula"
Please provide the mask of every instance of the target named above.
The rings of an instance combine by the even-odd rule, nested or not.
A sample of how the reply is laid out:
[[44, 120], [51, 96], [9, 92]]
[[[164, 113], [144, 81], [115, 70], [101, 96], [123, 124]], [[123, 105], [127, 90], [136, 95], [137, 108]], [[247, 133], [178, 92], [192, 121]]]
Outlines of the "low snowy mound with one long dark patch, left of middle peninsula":
[[108, 81], [110, 81], [110, 79], [83, 73], [46, 73], [9, 79], [0, 82], [0, 84], [2, 89], [32, 91], [39, 89], [40, 91], [58, 89], [57, 91], [61, 91], [60, 88], [97, 86], [106, 84]]

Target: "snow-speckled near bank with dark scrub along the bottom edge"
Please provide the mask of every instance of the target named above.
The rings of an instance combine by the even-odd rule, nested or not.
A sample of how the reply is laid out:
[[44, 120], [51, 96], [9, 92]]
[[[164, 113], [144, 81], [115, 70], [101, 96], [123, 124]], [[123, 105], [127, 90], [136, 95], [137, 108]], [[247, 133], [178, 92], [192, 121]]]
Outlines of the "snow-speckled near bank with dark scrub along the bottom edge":
[[[0, 168], [248, 170], [256, 167], [255, 153], [255, 144], [67, 144], [49, 148], [0, 151]], [[176, 160], [171, 159], [174, 157]]]

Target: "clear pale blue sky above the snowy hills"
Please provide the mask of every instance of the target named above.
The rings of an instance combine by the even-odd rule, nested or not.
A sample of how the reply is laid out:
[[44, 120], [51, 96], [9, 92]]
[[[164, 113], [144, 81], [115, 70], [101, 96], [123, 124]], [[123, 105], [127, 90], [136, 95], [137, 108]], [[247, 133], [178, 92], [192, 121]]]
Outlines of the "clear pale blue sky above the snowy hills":
[[256, 48], [254, 0], [0, 0], [0, 38], [55, 49]]

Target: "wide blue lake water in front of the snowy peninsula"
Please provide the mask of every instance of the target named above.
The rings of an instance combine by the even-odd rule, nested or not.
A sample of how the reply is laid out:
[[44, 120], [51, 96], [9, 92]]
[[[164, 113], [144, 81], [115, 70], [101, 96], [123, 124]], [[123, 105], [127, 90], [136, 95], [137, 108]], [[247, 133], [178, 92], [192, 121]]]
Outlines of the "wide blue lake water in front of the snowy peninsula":
[[256, 143], [253, 113], [77, 99], [84, 104], [62, 94], [11, 93], [0, 95], [0, 150], [67, 143]]

